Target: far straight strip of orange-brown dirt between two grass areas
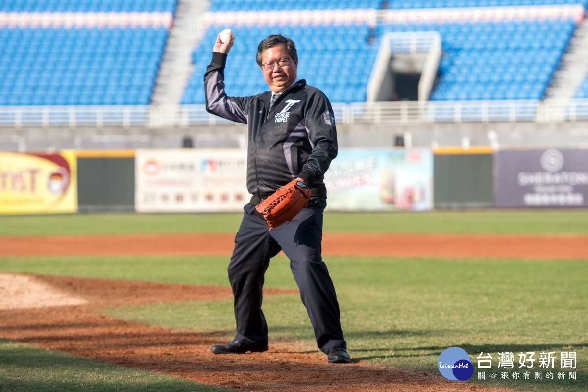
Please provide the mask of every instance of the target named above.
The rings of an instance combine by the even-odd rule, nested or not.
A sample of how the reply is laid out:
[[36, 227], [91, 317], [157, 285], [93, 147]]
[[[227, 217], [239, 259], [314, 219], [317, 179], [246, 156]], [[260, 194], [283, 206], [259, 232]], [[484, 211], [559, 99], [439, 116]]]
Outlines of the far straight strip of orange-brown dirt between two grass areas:
[[[230, 255], [232, 234], [2, 236], [0, 256]], [[516, 234], [326, 233], [325, 256], [516, 257], [586, 259], [588, 236]]]

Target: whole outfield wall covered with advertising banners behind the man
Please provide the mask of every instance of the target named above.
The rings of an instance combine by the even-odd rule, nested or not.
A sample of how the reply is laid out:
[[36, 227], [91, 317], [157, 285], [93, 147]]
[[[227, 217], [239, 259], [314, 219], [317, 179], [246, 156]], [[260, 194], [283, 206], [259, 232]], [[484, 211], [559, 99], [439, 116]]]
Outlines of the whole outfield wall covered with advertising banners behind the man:
[[[240, 212], [243, 149], [0, 152], [0, 214]], [[588, 149], [342, 148], [330, 210], [588, 207]]]

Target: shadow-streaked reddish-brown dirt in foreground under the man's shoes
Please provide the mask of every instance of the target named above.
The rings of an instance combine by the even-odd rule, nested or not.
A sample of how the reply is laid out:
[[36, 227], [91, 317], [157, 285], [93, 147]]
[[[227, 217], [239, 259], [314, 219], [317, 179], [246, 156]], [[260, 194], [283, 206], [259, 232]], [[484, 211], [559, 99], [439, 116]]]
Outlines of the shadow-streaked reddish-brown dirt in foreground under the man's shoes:
[[[272, 341], [265, 353], [216, 356], [209, 349], [226, 331], [202, 334], [164, 329], [113, 319], [99, 311], [106, 305], [230, 298], [227, 287], [25, 277], [88, 301], [83, 306], [0, 310], [0, 336], [50, 350], [243, 391], [503, 391], [357, 361], [329, 365], [324, 354], [296, 341]], [[292, 290], [265, 294], [288, 293]]]

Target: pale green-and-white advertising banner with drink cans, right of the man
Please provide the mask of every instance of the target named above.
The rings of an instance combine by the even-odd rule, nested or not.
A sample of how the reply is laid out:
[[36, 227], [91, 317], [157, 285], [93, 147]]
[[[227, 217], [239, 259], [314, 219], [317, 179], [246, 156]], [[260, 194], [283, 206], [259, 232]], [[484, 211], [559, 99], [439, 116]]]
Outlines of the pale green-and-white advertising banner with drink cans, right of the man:
[[433, 152], [430, 149], [346, 149], [325, 175], [329, 210], [430, 210]]

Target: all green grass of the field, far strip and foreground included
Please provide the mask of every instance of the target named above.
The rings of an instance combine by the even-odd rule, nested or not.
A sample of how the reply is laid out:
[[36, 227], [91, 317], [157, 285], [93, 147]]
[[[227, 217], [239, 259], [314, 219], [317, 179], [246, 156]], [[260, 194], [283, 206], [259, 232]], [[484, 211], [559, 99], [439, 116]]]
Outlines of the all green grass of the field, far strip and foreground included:
[[[73, 215], [0, 217], [0, 233], [186, 233], [234, 232], [239, 215]], [[371, 229], [370, 229], [371, 228]], [[440, 233], [588, 233], [586, 210], [501, 210], [431, 213], [342, 214], [325, 217], [326, 232]], [[476, 366], [467, 382], [515, 390], [584, 391], [588, 386], [588, 255], [585, 260], [433, 259], [392, 257], [329, 257], [338, 289], [343, 330], [355, 359], [438, 374], [436, 361], [447, 347], [465, 349]], [[159, 282], [228, 285], [228, 257], [4, 257], [0, 272], [105, 277]], [[294, 288], [288, 260], [276, 257], [266, 286]], [[195, 331], [225, 331], [232, 337], [232, 301], [193, 301], [103, 310], [120, 319]], [[270, 340], [299, 339], [316, 349], [312, 330], [298, 295], [264, 299]], [[2, 338], [2, 336], [0, 336]], [[577, 354], [577, 368], [553, 370], [537, 361], [530, 380], [499, 380], [497, 353], [522, 351]], [[493, 356], [492, 372], [478, 380], [480, 353]], [[51, 390], [81, 390], [79, 380], [91, 371], [83, 390], [216, 390], [166, 376], [118, 368], [98, 361], [49, 353], [0, 340], [0, 391], [42, 390], [32, 369], [43, 367]], [[45, 366], [46, 365], [46, 366]], [[66, 376], [61, 376], [63, 368]], [[91, 370], [89, 370], [91, 369]], [[480, 369], [481, 371], [482, 369]], [[553, 371], [554, 380], [546, 379]], [[502, 370], [505, 371], [505, 370]], [[542, 371], [542, 380], [534, 373]], [[565, 380], [557, 373], [564, 372]], [[569, 371], [576, 380], [569, 380]], [[126, 373], [128, 372], [128, 374]], [[523, 370], [520, 370], [523, 378]], [[496, 379], [490, 378], [496, 373]], [[48, 376], [47, 376], [48, 375]], [[125, 381], [121, 381], [125, 378]], [[152, 381], [152, 382], [151, 382]], [[84, 381], [86, 382], [86, 381]], [[8, 388], [3, 389], [3, 386]], [[188, 389], [191, 388], [191, 389]]]

